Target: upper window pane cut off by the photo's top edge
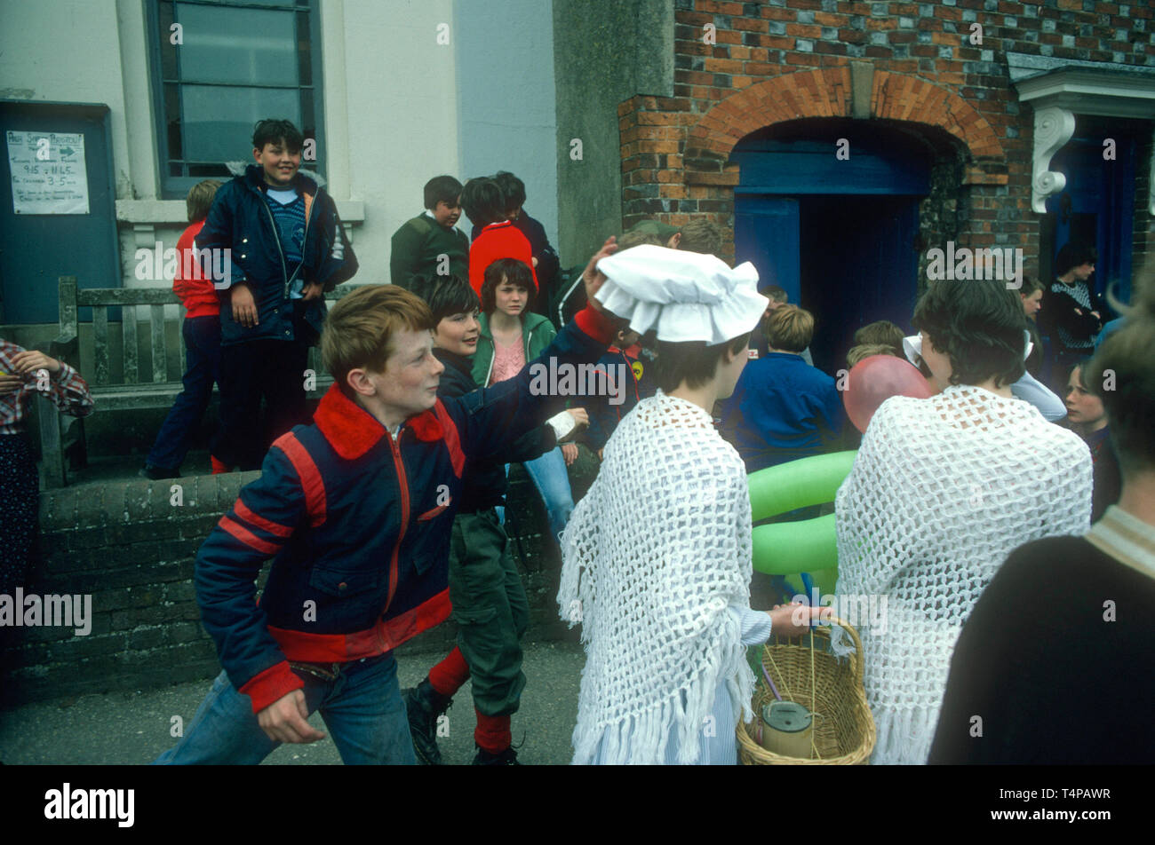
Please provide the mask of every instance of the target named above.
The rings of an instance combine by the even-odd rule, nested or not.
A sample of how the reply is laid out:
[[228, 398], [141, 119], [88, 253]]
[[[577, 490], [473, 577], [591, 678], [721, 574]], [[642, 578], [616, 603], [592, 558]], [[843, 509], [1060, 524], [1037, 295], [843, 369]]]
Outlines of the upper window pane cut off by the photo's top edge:
[[182, 81], [298, 84], [292, 12], [177, 3], [177, 21]]

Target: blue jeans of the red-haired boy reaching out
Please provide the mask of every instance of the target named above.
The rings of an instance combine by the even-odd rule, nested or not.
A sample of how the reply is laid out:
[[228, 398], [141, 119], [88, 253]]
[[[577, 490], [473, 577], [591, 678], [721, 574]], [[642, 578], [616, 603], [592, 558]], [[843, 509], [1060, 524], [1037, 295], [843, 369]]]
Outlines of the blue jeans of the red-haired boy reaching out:
[[[416, 765], [392, 652], [343, 664], [331, 681], [298, 674], [308, 712], [321, 711], [345, 765]], [[255, 765], [280, 745], [258, 725], [252, 700], [222, 672], [184, 738], [155, 764]]]

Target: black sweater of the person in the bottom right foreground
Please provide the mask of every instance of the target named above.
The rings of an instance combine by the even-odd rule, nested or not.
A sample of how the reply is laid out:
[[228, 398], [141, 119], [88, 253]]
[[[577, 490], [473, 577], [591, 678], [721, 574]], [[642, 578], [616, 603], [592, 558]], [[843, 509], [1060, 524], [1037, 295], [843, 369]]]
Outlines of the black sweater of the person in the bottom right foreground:
[[1086, 539], [1020, 546], [959, 637], [929, 762], [1155, 763], [1152, 620], [1155, 578]]

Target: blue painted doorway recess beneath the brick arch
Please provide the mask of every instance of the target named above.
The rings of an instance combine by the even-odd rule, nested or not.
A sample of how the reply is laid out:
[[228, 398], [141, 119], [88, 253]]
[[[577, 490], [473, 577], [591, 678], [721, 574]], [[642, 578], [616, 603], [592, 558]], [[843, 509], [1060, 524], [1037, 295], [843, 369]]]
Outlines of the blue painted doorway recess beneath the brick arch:
[[735, 255], [751, 261], [761, 286], [782, 286], [814, 314], [814, 365], [845, 366], [857, 328], [892, 320], [904, 329], [917, 297], [918, 201], [930, 193], [930, 156], [908, 139], [873, 128], [836, 139], [751, 136], [730, 160]]

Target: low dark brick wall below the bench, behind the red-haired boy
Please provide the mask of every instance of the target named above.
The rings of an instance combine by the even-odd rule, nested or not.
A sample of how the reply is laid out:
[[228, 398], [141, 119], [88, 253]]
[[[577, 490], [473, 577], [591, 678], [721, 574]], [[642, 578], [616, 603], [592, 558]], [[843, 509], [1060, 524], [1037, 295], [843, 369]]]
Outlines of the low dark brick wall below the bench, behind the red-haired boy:
[[[91, 631], [18, 627], [0, 652], [0, 706], [58, 696], [163, 687], [213, 678], [216, 649], [200, 622], [193, 564], [204, 537], [260, 473], [181, 478], [182, 504], [172, 481], [113, 481], [40, 495], [42, 563], [25, 595], [91, 596]], [[509, 507], [520, 515], [526, 560], [515, 543], [530, 604], [527, 641], [569, 640], [558, 619], [559, 555], [544, 538], [545, 509], [520, 466], [511, 472]], [[266, 567], [266, 574], [268, 568]], [[263, 585], [263, 574], [259, 586]], [[398, 656], [433, 663], [456, 637], [450, 620], [415, 637]]]

